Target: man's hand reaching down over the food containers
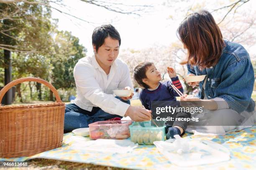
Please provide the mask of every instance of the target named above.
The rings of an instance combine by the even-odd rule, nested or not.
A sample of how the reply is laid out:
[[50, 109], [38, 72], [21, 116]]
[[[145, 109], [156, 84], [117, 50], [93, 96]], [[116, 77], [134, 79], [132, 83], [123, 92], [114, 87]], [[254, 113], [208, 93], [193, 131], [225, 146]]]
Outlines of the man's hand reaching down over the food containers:
[[151, 110], [146, 110], [139, 106], [130, 106], [125, 112], [125, 117], [131, 117], [131, 120], [136, 122], [142, 122], [151, 120]]

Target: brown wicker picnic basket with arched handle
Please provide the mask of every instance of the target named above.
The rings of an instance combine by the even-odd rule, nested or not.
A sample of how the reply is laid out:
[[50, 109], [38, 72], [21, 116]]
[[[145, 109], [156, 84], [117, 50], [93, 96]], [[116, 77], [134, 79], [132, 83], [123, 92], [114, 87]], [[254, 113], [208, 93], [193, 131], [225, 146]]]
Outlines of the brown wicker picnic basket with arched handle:
[[[55, 103], [1, 107], [5, 92], [21, 83], [35, 81], [49, 87]], [[62, 144], [65, 104], [47, 81], [26, 77], [14, 80], [0, 91], [0, 158], [31, 156]]]

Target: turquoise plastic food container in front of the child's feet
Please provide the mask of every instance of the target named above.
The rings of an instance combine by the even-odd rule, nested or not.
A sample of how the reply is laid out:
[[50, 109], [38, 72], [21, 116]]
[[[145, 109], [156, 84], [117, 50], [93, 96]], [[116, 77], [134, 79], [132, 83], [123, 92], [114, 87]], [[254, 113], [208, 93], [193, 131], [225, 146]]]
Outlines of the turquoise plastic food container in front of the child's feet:
[[151, 121], [134, 122], [130, 127], [131, 141], [139, 145], [154, 145], [154, 141], [164, 141], [165, 126], [156, 127]]

